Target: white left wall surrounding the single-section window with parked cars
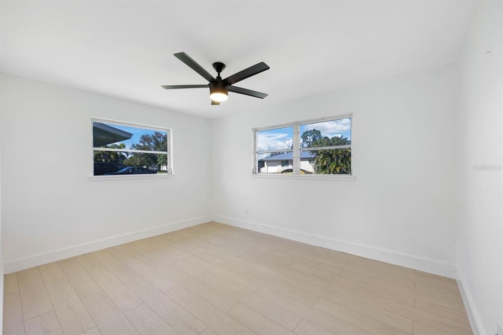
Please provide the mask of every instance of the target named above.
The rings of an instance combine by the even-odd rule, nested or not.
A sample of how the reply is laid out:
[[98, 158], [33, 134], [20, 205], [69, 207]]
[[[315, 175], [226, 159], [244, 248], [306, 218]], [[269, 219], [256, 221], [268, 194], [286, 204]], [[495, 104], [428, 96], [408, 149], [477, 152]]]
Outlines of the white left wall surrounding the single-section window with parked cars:
[[[6, 273], [53, 261], [59, 249], [211, 214], [210, 120], [9, 74], [1, 80]], [[173, 128], [175, 177], [90, 181], [93, 116]]]

